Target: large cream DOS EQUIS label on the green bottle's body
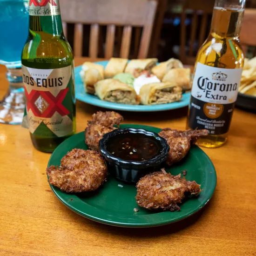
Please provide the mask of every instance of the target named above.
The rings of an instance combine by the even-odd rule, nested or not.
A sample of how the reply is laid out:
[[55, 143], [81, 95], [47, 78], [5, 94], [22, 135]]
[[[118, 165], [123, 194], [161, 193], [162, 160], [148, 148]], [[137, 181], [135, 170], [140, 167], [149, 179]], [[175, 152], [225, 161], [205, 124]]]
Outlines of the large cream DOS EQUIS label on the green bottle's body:
[[72, 66], [38, 69], [22, 65], [22, 72], [29, 131], [34, 134], [40, 130], [38, 133], [43, 135], [44, 130], [48, 128], [57, 137], [71, 134]]

